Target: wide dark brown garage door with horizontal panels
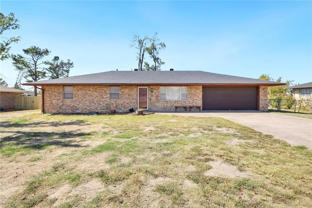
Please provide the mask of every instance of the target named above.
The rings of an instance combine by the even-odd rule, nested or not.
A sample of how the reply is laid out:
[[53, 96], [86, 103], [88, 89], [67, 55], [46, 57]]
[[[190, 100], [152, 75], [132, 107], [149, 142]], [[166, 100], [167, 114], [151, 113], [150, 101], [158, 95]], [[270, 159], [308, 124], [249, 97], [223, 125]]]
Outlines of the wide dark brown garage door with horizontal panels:
[[202, 87], [203, 110], [257, 110], [257, 87]]

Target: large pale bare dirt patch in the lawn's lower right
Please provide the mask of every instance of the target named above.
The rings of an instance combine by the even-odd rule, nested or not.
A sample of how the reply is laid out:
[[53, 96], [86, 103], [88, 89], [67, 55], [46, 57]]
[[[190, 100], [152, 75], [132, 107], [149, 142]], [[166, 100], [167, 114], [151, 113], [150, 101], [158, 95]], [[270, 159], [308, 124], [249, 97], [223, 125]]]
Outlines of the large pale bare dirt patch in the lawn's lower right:
[[210, 161], [208, 163], [212, 168], [204, 173], [205, 176], [248, 177], [246, 172], [240, 172], [236, 166], [226, 164], [221, 160]]

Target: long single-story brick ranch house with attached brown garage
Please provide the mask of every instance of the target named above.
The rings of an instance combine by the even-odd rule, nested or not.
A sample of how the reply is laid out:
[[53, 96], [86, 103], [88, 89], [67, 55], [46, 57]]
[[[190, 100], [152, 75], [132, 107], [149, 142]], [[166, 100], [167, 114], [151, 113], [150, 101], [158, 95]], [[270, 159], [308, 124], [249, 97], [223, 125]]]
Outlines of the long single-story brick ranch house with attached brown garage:
[[176, 106], [267, 111], [267, 87], [285, 83], [202, 71], [110, 71], [23, 85], [43, 89], [44, 113], [104, 113]]

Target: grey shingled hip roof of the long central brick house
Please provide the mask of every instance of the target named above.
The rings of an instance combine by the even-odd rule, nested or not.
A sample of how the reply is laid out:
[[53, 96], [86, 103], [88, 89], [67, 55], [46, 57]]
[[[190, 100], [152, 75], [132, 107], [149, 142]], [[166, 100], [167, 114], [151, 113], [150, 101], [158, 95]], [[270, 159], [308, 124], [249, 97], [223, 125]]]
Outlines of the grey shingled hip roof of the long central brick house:
[[203, 71], [109, 71], [95, 74], [64, 77], [37, 82], [28, 82], [23, 85], [285, 85], [285, 83], [271, 82], [246, 77], [236, 77]]

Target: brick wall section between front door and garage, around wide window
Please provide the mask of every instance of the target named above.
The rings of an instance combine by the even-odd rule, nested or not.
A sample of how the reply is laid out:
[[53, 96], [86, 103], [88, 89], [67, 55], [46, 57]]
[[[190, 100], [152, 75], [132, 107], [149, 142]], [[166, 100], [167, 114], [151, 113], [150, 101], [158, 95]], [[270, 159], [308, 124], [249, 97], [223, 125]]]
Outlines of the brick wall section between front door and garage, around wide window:
[[188, 100], [176, 101], [160, 100], [159, 86], [149, 86], [149, 110], [175, 110], [174, 106], [202, 106], [202, 86], [188, 86]]

